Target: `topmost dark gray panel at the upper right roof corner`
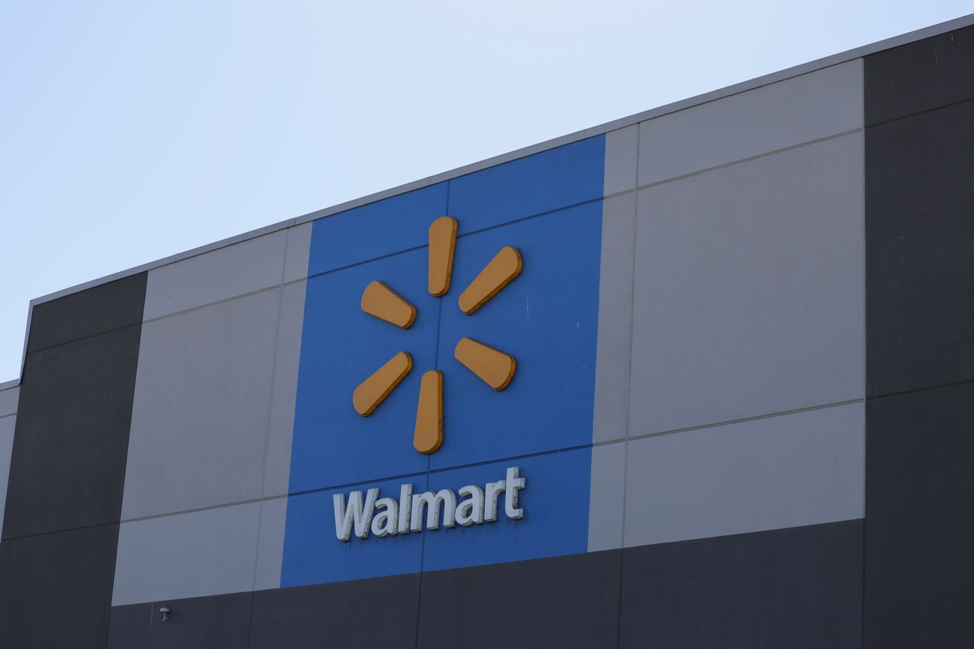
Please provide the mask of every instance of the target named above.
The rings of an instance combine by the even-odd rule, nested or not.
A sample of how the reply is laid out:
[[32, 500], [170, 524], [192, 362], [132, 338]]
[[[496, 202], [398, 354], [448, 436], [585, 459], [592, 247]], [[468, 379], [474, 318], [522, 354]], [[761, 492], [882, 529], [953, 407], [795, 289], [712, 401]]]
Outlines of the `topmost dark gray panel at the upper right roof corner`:
[[866, 56], [866, 126], [974, 98], [974, 27]]

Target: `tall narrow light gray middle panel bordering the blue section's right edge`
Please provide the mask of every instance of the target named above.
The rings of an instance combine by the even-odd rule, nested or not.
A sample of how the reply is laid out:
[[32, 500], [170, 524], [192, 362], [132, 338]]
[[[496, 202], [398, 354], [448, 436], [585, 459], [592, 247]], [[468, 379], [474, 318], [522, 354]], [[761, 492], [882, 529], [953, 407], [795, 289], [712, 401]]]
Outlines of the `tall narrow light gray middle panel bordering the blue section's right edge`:
[[628, 426], [635, 229], [635, 192], [603, 201], [594, 442], [624, 439]]

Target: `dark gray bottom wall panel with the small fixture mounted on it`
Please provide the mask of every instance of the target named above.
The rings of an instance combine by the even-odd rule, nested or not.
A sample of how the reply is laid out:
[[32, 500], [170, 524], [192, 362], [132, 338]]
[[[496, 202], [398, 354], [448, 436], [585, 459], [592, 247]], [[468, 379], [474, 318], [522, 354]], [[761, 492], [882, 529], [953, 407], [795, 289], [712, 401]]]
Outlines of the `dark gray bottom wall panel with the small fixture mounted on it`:
[[[108, 649], [240, 649], [247, 646], [252, 593], [169, 599], [111, 609]], [[168, 607], [163, 622], [159, 612]], [[278, 646], [288, 646], [281, 644]], [[318, 646], [323, 646], [318, 644]]]

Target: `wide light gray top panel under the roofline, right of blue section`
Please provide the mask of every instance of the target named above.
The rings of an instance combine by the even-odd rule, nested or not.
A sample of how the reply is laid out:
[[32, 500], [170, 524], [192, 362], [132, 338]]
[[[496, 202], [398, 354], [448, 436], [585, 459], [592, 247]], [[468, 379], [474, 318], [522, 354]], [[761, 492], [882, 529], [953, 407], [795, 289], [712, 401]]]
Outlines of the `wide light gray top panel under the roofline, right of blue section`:
[[863, 126], [862, 59], [640, 125], [639, 185]]

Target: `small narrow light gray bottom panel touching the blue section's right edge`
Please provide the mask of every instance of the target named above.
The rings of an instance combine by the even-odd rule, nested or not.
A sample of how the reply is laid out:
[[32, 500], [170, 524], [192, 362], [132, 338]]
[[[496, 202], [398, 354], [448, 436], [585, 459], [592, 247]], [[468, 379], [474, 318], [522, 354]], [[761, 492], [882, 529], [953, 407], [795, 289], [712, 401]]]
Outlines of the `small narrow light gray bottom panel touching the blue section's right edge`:
[[625, 442], [592, 447], [588, 552], [622, 547]]

